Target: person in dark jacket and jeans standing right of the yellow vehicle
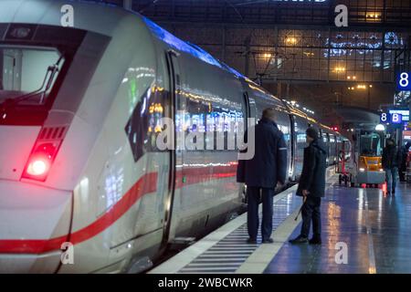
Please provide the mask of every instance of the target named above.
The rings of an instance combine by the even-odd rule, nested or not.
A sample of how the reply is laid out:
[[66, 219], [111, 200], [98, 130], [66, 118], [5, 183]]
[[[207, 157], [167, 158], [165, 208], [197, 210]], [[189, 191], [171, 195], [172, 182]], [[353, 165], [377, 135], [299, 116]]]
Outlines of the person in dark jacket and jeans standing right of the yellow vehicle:
[[401, 165], [401, 151], [396, 147], [393, 139], [386, 141], [386, 146], [383, 150], [383, 169], [385, 171], [385, 182], [387, 194], [394, 194], [398, 167]]

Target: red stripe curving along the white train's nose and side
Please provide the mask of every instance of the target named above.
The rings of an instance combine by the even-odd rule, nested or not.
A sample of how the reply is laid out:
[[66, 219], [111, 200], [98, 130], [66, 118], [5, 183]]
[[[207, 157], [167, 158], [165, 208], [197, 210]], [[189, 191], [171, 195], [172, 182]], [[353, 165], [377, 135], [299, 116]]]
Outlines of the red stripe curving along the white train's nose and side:
[[[204, 183], [209, 180], [236, 176], [237, 163], [229, 166], [201, 167], [184, 169], [176, 173], [176, 188], [194, 183]], [[157, 173], [144, 174], [132, 188], [125, 193], [118, 203], [115, 203], [107, 213], [103, 214], [92, 224], [70, 234], [51, 239], [5, 239], [0, 240], [0, 253], [2, 254], [43, 254], [59, 250], [64, 242], [73, 245], [89, 240], [99, 235], [114, 224], [123, 214], [142, 198], [143, 195], [154, 193], [157, 189]]]

